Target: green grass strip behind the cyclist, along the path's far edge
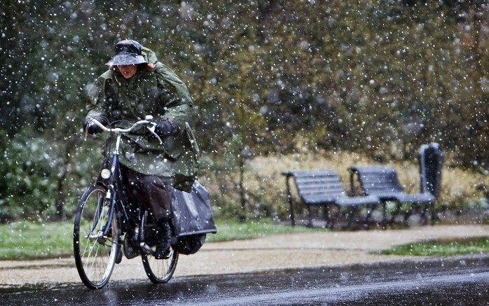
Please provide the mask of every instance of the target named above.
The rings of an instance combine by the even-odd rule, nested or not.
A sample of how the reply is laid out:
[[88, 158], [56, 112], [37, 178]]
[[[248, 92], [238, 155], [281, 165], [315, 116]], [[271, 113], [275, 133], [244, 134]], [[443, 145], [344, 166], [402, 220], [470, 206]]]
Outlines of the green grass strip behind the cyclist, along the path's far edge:
[[[207, 242], [252, 239], [266, 235], [312, 232], [318, 229], [292, 228], [270, 219], [260, 221], [216, 220], [217, 234], [207, 235]], [[320, 230], [320, 229], [319, 229]], [[0, 225], [0, 260], [25, 260], [71, 256], [73, 223], [32, 223], [19, 221]]]

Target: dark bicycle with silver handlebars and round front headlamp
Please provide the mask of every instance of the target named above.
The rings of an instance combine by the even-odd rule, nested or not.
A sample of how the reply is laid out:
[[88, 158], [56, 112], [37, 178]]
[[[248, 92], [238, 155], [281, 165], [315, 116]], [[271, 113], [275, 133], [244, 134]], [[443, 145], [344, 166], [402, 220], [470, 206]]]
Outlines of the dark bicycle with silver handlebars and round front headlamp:
[[[154, 132], [152, 116], [139, 120], [128, 129], [105, 127], [98, 120], [92, 123], [116, 135], [116, 146], [109, 158], [109, 167], [103, 167], [99, 180], [81, 196], [74, 221], [74, 257], [76, 269], [83, 284], [91, 289], [104, 287], [113, 267], [124, 255], [131, 259], [142, 257], [146, 275], [155, 284], [172, 278], [179, 253], [170, 249], [165, 259], [154, 258], [158, 242], [158, 225], [150, 211], [133, 207], [128, 202], [119, 166], [120, 137], [145, 125], [160, 144]], [[123, 245], [123, 248], [122, 246]]]

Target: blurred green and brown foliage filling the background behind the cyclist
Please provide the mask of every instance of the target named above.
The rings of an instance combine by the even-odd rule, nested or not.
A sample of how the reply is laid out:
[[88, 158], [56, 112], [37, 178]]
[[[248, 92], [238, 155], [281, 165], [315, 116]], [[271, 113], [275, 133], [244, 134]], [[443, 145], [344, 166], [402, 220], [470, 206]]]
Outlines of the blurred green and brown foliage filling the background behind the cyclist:
[[126, 38], [189, 86], [212, 160], [201, 173], [221, 178], [220, 197], [237, 190], [245, 146], [252, 156], [348, 150], [387, 162], [436, 141], [450, 165], [487, 174], [487, 10], [484, 1], [8, 0], [0, 130], [11, 160], [0, 162], [0, 218], [46, 216], [55, 203], [70, 214], [99, 165], [88, 150], [97, 143], [79, 141], [83, 89]]

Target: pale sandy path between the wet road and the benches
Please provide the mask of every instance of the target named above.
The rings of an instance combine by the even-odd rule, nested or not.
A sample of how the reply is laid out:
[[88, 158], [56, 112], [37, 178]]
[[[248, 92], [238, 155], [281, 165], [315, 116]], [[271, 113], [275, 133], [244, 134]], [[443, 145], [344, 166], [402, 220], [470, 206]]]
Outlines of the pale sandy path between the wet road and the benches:
[[[197, 254], [180, 256], [174, 277], [396, 261], [409, 257], [385, 256], [379, 251], [409, 242], [481, 236], [489, 236], [489, 225], [301, 233], [216, 242], [205, 244]], [[111, 280], [128, 279], [146, 279], [139, 258], [124, 258], [114, 268]], [[80, 282], [73, 258], [0, 261], [0, 288]]]

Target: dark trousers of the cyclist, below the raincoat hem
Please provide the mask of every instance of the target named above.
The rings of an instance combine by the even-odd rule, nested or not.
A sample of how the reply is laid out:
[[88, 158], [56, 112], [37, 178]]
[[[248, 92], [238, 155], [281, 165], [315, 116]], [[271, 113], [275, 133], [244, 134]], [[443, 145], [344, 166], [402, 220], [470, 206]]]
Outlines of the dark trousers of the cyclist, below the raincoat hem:
[[120, 165], [124, 183], [128, 190], [128, 200], [139, 203], [143, 208], [153, 212], [156, 220], [168, 220], [172, 209], [172, 197], [167, 185], [169, 179], [160, 176], [146, 175]]

